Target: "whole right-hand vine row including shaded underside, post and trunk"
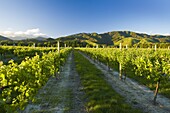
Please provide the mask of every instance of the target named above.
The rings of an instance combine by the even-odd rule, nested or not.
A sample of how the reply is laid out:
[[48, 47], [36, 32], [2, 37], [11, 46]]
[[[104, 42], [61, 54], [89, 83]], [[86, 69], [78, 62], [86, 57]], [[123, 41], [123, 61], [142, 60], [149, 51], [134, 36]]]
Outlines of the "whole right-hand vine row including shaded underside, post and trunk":
[[[119, 71], [120, 79], [128, 75], [151, 89], [157, 82], [161, 93], [170, 98], [170, 51], [152, 49], [80, 49], [92, 59]], [[124, 78], [123, 78], [124, 75]], [[158, 89], [157, 89], [158, 90]], [[155, 92], [156, 101], [157, 92]]]

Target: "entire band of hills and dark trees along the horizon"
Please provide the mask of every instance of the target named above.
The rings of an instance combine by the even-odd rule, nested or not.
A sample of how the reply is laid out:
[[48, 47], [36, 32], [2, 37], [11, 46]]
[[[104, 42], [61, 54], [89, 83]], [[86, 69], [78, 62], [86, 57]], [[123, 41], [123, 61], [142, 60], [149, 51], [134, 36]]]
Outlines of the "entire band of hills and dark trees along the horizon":
[[34, 43], [36, 46], [56, 46], [57, 41], [60, 40], [61, 46], [72, 47], [103, 47], [114, 46], [118, 47], [120, 43], [128, 47], [152, 47], [157, 44], [157, 47], [167, 48], [170, 46], [170, 36], [163, 35], [148, 35], [144, 33], [136, 33], [131, 31], [112, 31], [107, 33], [78, 33], [57, 39], [36, 37], [24, 38], [22, 40], [11, 40], [7, 37], [0, 36], [2, 45], [25, 45], [30, 46]]

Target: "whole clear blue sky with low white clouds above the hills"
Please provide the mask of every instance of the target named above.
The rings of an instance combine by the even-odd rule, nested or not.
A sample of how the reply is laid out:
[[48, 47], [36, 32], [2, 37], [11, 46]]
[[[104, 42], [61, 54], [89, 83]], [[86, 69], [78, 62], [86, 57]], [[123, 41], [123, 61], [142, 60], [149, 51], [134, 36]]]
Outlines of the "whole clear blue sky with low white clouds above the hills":
[[170, 34], [170, 0], [0, 0], [0, 34]]

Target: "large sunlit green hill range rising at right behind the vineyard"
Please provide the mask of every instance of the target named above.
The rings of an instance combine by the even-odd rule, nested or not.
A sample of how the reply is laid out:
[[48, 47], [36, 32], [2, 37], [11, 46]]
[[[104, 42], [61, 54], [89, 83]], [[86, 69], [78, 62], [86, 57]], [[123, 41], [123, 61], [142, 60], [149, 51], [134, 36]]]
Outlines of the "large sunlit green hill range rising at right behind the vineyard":
[[89, 45], [114, 45], [118, 46], [134, 46], [154, 43], [170, 44], [170, 36], [148, 35], [144, 33], [136, 33], [131, 31], [112, 31], [103, 34], [98, 33], [79, 33], [66, 37], [60, 37], [58, 40], [63, 42], [77, 41], [87, 43]]

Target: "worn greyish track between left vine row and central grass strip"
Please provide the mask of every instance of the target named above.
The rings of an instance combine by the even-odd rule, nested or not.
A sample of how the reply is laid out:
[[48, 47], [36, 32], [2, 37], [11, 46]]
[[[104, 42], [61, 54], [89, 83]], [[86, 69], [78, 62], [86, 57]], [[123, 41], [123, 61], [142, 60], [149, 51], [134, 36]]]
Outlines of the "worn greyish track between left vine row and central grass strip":
[[28, 104], [23, 113], [83, 113], [83, 92], [80, 88], [71, 53], [60, 73], [60, 79], [51, 77], [37, 94], [35, 103]]

